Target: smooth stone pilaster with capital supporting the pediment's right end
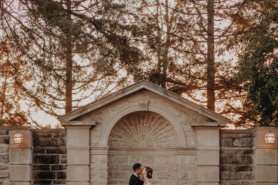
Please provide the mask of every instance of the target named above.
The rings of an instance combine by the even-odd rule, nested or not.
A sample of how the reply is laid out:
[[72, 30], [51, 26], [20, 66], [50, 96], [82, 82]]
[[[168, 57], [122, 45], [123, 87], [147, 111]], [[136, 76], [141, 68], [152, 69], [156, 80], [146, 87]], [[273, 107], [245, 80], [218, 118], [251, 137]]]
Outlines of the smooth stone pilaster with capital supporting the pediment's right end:
[[197, 129], [197, 185], [219, 185], [219, 130], [226, 123], [191, 123]]

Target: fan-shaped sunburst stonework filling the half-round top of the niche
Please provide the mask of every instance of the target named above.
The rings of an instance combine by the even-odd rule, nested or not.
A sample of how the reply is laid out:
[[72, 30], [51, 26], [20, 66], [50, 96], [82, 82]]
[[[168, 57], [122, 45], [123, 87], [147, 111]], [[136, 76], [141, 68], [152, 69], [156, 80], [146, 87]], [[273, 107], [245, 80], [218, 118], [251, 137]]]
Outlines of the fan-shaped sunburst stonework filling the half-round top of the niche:
[[112, 128], [112, 147], [175, 147], [178, 138], [169, 121], [154, 112], [133, 112], [122, 117]]

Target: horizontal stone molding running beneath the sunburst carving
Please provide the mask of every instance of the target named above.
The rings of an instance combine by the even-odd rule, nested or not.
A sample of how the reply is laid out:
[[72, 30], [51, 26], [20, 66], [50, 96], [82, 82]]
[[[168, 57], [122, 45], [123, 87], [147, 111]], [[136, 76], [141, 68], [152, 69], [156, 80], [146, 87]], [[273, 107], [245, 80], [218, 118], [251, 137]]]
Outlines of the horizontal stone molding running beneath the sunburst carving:
[[179, 147], [179, 148], [114, 148], [114, 147], [90, 147], [90, 154], [105, 154], [105, 155], [138, 155], [144, 151], [144, 155], [197, 155], [196, 148]]

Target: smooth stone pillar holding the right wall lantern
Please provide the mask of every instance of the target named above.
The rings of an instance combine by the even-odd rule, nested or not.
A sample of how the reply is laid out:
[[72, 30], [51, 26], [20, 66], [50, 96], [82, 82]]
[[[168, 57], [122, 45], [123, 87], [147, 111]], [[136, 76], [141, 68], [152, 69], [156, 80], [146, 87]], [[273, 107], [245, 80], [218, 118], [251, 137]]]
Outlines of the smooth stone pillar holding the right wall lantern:
[[255, 165], [256, 185], [277, 185], [277, 138], [274, 144], [266, 144], [264, 136], [272, 131], [277, 137], [275, 127], [256, 127], [253, 129], [253, 164]]

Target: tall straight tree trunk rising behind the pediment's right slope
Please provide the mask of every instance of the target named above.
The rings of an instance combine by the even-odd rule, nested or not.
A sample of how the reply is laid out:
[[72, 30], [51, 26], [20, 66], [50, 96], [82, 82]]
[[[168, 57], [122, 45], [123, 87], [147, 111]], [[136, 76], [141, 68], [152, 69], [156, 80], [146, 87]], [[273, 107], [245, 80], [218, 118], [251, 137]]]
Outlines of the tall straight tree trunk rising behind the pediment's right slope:
[[214, 0], [208, 0], [207, 108], [215, 111]]

